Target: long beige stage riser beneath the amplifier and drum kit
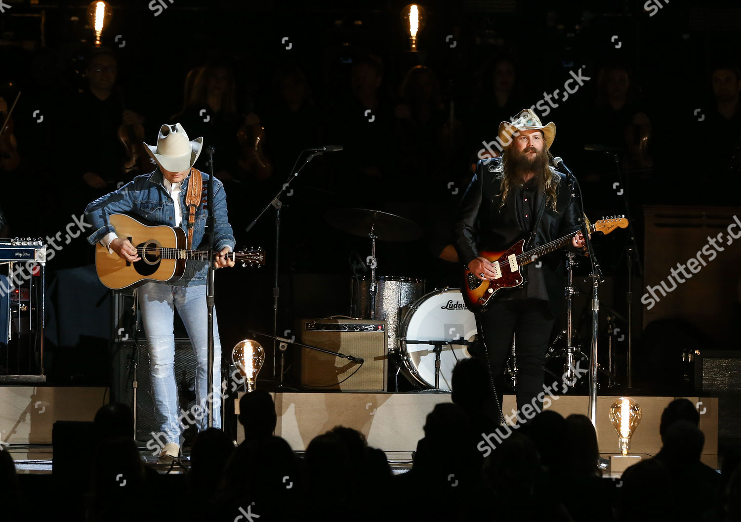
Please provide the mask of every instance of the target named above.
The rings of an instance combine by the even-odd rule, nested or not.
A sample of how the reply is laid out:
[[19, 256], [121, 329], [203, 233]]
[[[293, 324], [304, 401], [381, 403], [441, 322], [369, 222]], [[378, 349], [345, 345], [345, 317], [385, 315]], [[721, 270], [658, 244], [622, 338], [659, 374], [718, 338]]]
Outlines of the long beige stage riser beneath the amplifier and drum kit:
[[[241, 395], [240, 395], [241, 396]], [[450, 394], [431, 393], [276, 393], [278, 423], [276, 435], [288, 441], [296, 451], [306, 449], [316, 435], [334, 426], [347, 426], [362, 432], [368, 444], [385, 452], [413, 452], [425, 436], [425, 417], [437, 403], [451, 402]], [[597, 397], [597, 438], [599, 452], [619, 454], [617, 433], [608, 412], [615, 397]], [[642, 420], [631, 439], [631, 453], [654, 455], [661, 449], [659, 423], [668, 403], [677, 397], [633, 397], [642, 409]], [[718, 399], [686, 397], [700, 403], [700, 429], [705, 434], [703, 455], [718, 452]], [[548, 409], [564, 417], [587, 414], [588, 397], [559, 396]], [[514, 395], [505, 395], [504, 411], [515, 408]], [[235, 405], [239, 413], [239, 403]], [[238, 442], [244, 440], [239, 426]], [[496, 443], [496, 441], [495, 441]]]

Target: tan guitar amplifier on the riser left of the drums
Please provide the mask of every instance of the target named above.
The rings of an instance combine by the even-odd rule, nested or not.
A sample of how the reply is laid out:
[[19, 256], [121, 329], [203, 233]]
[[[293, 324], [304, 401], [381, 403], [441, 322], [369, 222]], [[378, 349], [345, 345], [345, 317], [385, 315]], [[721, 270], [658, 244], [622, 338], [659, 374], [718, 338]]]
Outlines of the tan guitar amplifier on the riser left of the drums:
[[301, 348], [301, 383], [307, 388], [343, 392], [385, 392], [388, 365], [385, 321], [305, 319], [301, 342], [325, 350], [360, 357], [353, 361]]

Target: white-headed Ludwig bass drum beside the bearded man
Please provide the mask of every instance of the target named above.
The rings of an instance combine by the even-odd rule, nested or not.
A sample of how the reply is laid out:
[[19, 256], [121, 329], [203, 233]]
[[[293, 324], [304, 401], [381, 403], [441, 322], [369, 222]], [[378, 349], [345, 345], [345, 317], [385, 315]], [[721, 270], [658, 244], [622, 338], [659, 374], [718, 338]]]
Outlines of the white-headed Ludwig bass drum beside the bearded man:
[[[463, 303], [458, 288], [431, 291], [412, 303], [399, 324], [399, 352], [402, 371], [414, 383], [435, 387], [435, 346], [427, 341], [476, 340], [476, 317]], [[425, 343], [411, 343], [425, 341]], [[440, 352], [439, 389], [451, 390], [453, 366], [471, 357], [468, 346], [443, 345]]]

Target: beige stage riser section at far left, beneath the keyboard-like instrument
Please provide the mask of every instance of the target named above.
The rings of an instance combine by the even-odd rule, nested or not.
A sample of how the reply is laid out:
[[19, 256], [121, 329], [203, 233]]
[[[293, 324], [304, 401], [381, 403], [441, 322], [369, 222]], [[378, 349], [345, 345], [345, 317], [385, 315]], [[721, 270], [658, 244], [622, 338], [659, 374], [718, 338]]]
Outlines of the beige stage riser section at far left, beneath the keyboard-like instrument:
[[57, 420], [93, 420], [108, 398], [105, 391], [94, 386], [0, 386], [0, 439], [51, 444]]

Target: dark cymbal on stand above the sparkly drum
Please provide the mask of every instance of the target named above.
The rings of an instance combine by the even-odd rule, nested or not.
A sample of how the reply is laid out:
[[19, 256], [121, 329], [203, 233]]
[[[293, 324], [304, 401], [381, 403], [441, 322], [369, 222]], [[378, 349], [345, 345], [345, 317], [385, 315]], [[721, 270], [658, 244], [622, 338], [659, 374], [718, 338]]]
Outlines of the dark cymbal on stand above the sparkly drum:
[[336, 208], [325, 213], [327, 222], [341, 231], [384, 241], [413, 241], [422, 237], [422, 227], [405, 217], [367, 208]]

